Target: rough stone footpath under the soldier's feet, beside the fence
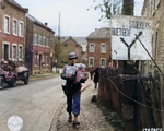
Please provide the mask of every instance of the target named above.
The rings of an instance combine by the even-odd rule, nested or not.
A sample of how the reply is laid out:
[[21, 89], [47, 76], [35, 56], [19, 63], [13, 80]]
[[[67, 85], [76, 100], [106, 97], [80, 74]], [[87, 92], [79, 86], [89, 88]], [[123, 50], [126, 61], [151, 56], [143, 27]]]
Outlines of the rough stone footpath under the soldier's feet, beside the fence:
[[73, 128], [72, 123], [67, 121], [68, 114], [66, 111], [66, 97], [65, 103], [58, 107], [51, 122], [49, 131], [114, 131], [113, 127], [105, 121], [105, 117], [94, 103], [91, 103], [92, 96], [97, 94], [97, 88], [94, 88], [94, 83], [87, 80], [84, 84], [86, 87], [81, 94], [81, 112], [79, 115], [80, 126]]

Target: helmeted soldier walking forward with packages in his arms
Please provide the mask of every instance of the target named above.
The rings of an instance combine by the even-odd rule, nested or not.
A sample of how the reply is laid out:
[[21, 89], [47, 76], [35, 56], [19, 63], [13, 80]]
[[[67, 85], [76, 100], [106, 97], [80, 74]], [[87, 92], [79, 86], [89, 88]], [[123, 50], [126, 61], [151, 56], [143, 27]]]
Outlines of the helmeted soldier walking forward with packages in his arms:
[[73, 126], [80, 124], [78, 116], [80, 115], [81, 84], [77, 84], [77, 62], [75, 52], [69, 55], [69, 64], [66, 64], [61, 73], [61, 79], [66, 80], [67, 112], [69, 114], [68, 122], [72, 122], [72, 112], [74, 115]]

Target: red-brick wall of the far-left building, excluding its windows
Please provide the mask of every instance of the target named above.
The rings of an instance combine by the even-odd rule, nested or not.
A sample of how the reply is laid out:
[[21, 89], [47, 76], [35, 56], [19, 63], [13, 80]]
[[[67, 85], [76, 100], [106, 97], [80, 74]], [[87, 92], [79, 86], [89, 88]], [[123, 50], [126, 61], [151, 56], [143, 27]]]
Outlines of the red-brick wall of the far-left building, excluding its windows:
[[[10, 17], [10, 33], [7, 34], [4, 33], [4, 16]], [[3, 55], [3, 49], [4, 49], [4, 44], [9, 45], [10, 48], [10, 53], [9, 58], [12, 59], [12, 44], [16, 44], [17, 47], [19, 45], [23, 46], [23, 56], [25, 53], [25, 31], [24, 31], [24, 36], [20, 37], [19, 34], [13, 35], [13, 19], [17, 21], [17, 26], [19, 22], [23, 22], [24, 28], [25, 28], [25, 11], [14, 7], [11, 3], [5, 4], [4, 8], [1, 9], [1, 41], [0, 41], [0, 59], [4, 59]], [[19, 53], [19, 49], [17, 49]], [[17, 64], [24, 64], [24, 57], [23, 60], [19, 60], [19, 57], [16, 60], [14, 60]]]

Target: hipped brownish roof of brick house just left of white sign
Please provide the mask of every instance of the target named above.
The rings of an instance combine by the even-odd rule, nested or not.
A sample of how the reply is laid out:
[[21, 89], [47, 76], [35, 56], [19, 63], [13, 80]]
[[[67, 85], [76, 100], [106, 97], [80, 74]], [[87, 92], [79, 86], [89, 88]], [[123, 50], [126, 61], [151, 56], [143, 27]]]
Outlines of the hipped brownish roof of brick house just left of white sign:
[[109, 38], [110, 37], [110, 28], [109, 27], [102, 27], [99, 29], [95, 29], [92, 32], [86, 39], [102, 39], [102, 38]]

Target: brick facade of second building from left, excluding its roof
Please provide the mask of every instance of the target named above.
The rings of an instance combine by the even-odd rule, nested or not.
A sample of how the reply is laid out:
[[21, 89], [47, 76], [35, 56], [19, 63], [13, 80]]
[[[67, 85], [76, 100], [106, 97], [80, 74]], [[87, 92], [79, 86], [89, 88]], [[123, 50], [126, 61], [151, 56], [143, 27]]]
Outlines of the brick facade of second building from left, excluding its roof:
[[[51, 55], [54, 53], [54, 33], [50, 29], [38, 25], [30, 17], [26, 17], [26, 66], [28, 67], [31, 74], [50, 72], [52, 63]], [[34, 33], [48, 37], [48, 46], [34, 44]], [[48, 57], [48, 59], [45, 56]], [[44, 59], [46, 61], [45, 64], [43, 62]]]

